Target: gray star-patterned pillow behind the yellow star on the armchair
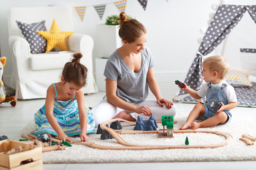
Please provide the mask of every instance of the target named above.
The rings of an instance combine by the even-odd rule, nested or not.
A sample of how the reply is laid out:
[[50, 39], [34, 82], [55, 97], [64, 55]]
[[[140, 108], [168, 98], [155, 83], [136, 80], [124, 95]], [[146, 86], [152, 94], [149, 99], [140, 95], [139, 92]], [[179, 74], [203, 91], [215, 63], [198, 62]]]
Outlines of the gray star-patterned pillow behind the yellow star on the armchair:
[[47, 41], [40, 34], [36, 33], [36, 30], [46, 31], [46, 27], [44, 26], [45, 20], [32, 24], [22, 23], [20, 21], [16, 21], [16, 23], [22, 35], [28, 41], [30, 52], [32, 54], [45, 53]]

